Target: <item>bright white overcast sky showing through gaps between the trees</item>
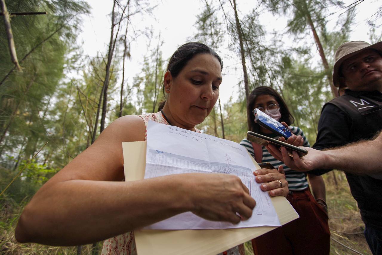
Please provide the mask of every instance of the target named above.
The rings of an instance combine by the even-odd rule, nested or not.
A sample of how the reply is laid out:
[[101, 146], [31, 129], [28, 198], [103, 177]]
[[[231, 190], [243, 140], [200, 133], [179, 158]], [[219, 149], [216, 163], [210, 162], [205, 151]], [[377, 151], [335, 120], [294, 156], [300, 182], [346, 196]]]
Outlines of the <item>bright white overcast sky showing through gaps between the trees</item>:
[[[110, 16], [113, 1], [88, 1], [92, 7], [91, 15], [84, 17], [83, 32], [79, 34], [79, 39], [83, 41], [84, 53], [89, 56], [96, 56], [97, 52], [105, 54], [107, 44], [110, 38]], [[162, 0], [153, 11], [153, 18], [147, 16], [144, 20], [139, 22], [135, 21], [133, 24], [136, 28], [145, 28], [153, 26], [155, 33], [161, 33], [161, 38], [164, 43], [161, 47], [163, 59], [168, 59], [178, 46], [186, 43], [188, 38], [196, 33], [194, 26], [196, 22], [196, 15], [202, 10], [204, 1], [199, 0]], [[241, 1], [238, 0], [238, 10], [242, 13], [251, 10], [254, 7], [255, 1]], [[354, 1], [348, 2], [346, 5]], [[358, 5], [356, 21], [353, 25], [353, 31], [350, 40], [369, 41], [369, 26], [367, 20], [378, 10], [382, 5], [382, 1], [365, 0]], [[336, 10], [337, 11], [337, 10]], [[328, 31], [333, 29], [338, 15], [343, 11], [338, 11], [336, 14], [329, 16], [331, 20], [328, 25]], [[286, 18], [275, 18], [269, 13], [263, 13], [259, 17], [260, 22], [268, 31], [285, 31]], [[381, 34], [381, 28], [378, 28], [377, 34]], [[313, 38], [309, 38], [311, 42]], [[290, 40], [292, 42], [293, 40]], [[288, 40], [287, 42], [288, 43]], [[156, 42], [154, 43], [156, 44]], [[315, 50], [315, 47], [314, 49]], [[141, 70], [143, 56], [147, 53], [146, 41], [142, 37], [137, 42], [131, 44], [131, 60], [126, 63], [126, 68], [129, 74], [134, 73], [129, 77], [128, 82], [132, 82], [135, 74]], [[242, 76], [241, 64], [238, 61], [227, 59], [224, 56], [229, 55], [229, 49], [226, 52], [218, 52], [224, 61], [225, 69], [223, 69], [223, 82], [220, 89], [220, 99], [223, 103], [227, 102], [231, 95], [237, 98], [238, 86], [236, 84], [240, 81]], [[318, 56], [318, 53], [317, 53]], [[234, 68], [237, 67], [235, 72]]]

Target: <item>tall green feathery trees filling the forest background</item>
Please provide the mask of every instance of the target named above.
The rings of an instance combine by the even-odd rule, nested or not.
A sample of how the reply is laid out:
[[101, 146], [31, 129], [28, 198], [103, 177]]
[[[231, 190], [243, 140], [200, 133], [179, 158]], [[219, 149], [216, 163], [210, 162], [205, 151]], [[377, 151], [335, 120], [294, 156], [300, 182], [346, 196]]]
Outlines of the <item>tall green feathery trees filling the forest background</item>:
[[[96, 57], [86, 58], [81, 52], [81, 46], [76, 45], [81, 19], [84, 14], [89, 13], [86, 2], [6, 2], [11, 12], [47, 11], [49, 15], [12, 17], [16, 51], [23, 72], [13, 71], [4, 26], [0, 26], [0, 49], [6, 49], [0, 51], [0, 191], [25, 167], [0, 198], [0, 239], [5, 240], [0, 242], [0, 251], [10, 254], [45, 254], [49, 251], [72, 254], [73, 248], [53, 250], [44, 246], [16, 244], [13, 228], [25, 202], [58, 170], [89, 147], [99, 134], [106, 54], [100, 53]], [[197, 15], [195, 25], [198, 31], [192, 38], [206, 43], [219, 54], [223, 52], [223, 47], [229, 48], [227, 56], [222, 57], [240, 62], [241, 51], [231, 2], [205, 3], [201, 13]], [[261, 25], [264, 21], [259, 18], [259, 7], [263, 6], [275, 15], [287, 15], [288, 33], [296, 39], [296, 44], [303, 45], [287, 47], [282, 41], [282, 33], [270, 34], [265, 31]], [[303, 129], [311, 144], [316, 139], [322, 105], [332, 98], [332, 93], [327, 86], [328, 73], [322, 65], [317, 64], [317, 54], [311, 52], [313, 43], [306, 43], [309, 39], [303, 39], [311, 38], [307, 37], [311, 33], [310, 17], [331, 69], [334, 52], [340, 44], [348, 40], [355, 15], [354, 9], [346, 11], [346, 15], [338, 18], [336, 28], [328, 29], [328, 7], [333, 6], [342, 7], [343, 3], [335, 0], [270, 0], [263, 1], [261, 6], [253, 10], [238, 10], [249, 90], [265, 85], [280, 92], [295, 116], [294, 125]], [[238, 8], [240, 7], [243, 6], [238, 3]], [[121, 16], [120, 9], [121, 7], [117, 10], [117, 17]], [[143, 9], [145, 13], [152, 10], [148, 2], [142, 4], [138, 1], [131, 3], [131, 10], [127, 12], [133, 16]], [[128, 24], [129, 29], [135, 29], [131, 16], [121, 23], [120, 31], [125, 30], [122, 26]], [[126, 42], [129, 38], [134, 40], [141, 31], [137, 32], [134, 31], [134, 36], [126, 36]], [[155, 112], [162, 100], [161, 84], [166, 62], [160, 50], [163, 41], [160, 34], [154, 35], [152, 28], [142, 34], [146, 34], [149, 41], [147, 54], [143, 59], [141, 72], [133, 78], [130, 85], [128, 78], [134, 74], [126, 69], [122, 115]], [[371, 25], [371, 42], [375, 43], [380, 38], [376, 34], [375, 26]], [[125, 39], [116, 38], [115, 56], [121, 53], [119, 46], [122, 41]], [[127, 56], [130, 56], [128, 44]], [[121, 58], [114, 57], [111, 63], [105, 126], [119, 115], [121, 87], [118, 76], [121, 73], [121, 62]], [[232, 70], [232, 67], [225, 68], [223, 79], [224, 72]], [[238, 84], [242, 83], [239, 78]], [[225, 138], [240, 142], [248, 129], [244, 90], [240, 90], [238, 98], [231, 97], [221, 108], [222, 112], [217, 103], [197, 128], [206, 134], [223, 137], [223, 123]], [[49, 144], [27, 165], [47, 141]], [[341, 199], [330, 197], [333, 190], [334, 188], [329, 188], [329, 206], [338, 207], [351, 216], [358, 213], [348, 189], [338, 191]], [[251, 250], [249, 245], [246, 245], [247, 252]], [[84, 248], [83, 252], [90, 252], [90, 248]]]

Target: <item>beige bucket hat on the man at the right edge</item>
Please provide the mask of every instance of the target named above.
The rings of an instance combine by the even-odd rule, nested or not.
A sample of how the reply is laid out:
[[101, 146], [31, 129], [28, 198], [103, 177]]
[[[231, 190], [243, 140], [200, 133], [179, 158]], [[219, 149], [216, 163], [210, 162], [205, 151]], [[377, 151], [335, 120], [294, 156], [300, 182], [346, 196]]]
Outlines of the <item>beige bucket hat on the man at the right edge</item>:
[[340, 87], [339, 72], [342, 62], [366, 49], [374, 49], [382, 55], [382, 41], [374, 44], [369, 44], [364, 41], [351, 41], [343, 43], [338, 47], [335, 52], [335, 64], [333, 67], [333, 84], [335, 87]]

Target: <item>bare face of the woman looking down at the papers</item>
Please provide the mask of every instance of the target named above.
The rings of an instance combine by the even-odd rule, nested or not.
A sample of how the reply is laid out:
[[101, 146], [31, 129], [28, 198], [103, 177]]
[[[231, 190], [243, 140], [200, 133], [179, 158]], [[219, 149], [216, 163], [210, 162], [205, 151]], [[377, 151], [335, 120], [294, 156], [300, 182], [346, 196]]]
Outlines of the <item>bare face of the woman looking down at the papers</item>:
[[[220, 63], [211, 54], [197, 54], [173, 78], [165, 74], [168, 109], [176, 123], [192, 128], [204, 121], [219, 97]], [[169, 90], [167, 90], [169, 88]]]

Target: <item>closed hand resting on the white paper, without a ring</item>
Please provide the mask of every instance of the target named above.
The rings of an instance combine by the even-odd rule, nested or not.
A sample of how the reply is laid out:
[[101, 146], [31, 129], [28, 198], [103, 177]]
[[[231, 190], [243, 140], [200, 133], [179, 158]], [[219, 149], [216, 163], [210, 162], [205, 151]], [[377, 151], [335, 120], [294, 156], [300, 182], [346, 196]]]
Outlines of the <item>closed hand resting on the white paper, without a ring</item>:
[[252, 216], [256, 201], [239, 177], [223, 173], [186, 175], [186, 188], [193, 204], [191, 212], [197, 216], [233, 224]]

